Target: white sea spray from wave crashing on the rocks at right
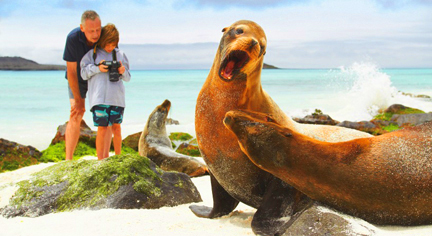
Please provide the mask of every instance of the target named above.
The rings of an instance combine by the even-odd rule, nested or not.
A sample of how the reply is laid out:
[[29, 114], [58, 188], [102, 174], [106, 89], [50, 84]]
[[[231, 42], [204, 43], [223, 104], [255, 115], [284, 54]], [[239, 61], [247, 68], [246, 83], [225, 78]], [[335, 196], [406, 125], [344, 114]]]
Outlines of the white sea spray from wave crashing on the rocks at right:
[[353, 63], [349, 67], [331, 70], [328, 76], [338, 104], [338, 108], [333, 106], [329, 114], [340, 121], [371, 120], [396, 103], [426, 112], [432, 109], [430, 101], [403, 95], [393, 86], [391, 77], [373, 63]]

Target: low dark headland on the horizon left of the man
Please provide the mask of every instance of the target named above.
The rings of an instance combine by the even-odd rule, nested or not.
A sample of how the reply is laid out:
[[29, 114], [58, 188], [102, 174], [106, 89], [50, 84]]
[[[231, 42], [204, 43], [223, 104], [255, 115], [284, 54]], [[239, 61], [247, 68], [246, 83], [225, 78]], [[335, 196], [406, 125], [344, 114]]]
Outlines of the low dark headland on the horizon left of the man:
[[0, 57], [0, 70], [13, 71], [47, 71], [47, 70], [66, 70], [63, 65], [39, 64], [35, 61], [22, 57]]

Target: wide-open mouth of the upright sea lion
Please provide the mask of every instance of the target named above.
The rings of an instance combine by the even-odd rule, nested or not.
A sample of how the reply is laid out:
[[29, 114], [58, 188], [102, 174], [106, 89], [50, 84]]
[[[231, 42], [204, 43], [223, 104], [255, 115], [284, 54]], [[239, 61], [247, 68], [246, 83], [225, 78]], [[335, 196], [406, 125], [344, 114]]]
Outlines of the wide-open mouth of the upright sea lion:
[[219, 76], [224, 80], [231, 80], [241, 68], [249, 61], [249, 55], [245, 51], [234, 50], [223, 60]]

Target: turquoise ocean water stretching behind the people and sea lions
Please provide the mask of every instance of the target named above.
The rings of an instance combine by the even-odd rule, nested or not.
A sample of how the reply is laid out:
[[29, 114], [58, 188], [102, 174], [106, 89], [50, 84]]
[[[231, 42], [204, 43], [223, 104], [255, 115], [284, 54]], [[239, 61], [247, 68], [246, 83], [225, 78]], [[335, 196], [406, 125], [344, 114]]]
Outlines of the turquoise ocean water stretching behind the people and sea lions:
[[[123, 137], [142, 131], [149, 114], [165, 99], [172, 103], [169, 117], [181, 123], [168, 131], [194, 135], [196, 98], [208, 70], [131, 73], [131, 81], [125, 83]], [[432, 112], [432, 100], [401, 93], [432, 97], [432, 69], [380, 69], [354, 63], [337, 69], [263, 70], [261, 79], [264, 90], [290, 116], [303, 117], [318, 108], [339, 121], [370, 120], [394, 103]], [[47, 148], [58, 125], [69, 118], [64, 72], [0, 71], [0, 84], [0, 138]], [[90, 112], [84, 120], [96, 130]]]

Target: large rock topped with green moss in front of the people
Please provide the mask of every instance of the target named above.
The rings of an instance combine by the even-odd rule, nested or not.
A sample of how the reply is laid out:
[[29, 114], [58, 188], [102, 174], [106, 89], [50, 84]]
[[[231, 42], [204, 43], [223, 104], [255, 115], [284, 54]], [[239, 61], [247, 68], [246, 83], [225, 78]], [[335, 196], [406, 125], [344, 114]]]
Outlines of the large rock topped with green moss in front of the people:
[[0, 210], [4, 217], [75, 209], [156, 209], [202, 201], [186, 174], [165, 172], [137, 154], [61, 162], [17, 186], [9, 205]]

